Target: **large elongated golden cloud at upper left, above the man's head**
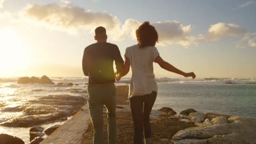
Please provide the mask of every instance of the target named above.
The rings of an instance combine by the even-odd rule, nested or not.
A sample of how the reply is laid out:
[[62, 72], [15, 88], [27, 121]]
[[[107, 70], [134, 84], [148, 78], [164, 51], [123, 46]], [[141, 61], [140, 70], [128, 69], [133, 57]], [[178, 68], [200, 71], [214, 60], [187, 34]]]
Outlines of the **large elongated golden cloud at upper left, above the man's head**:
[[64, 30], [91, 29], [99, 25], [112, 30], [119, 26], [119, 20], [113, 15], [85, 11], [73, 5], [29, 4], [23, 10], [23, 15], [45, 25]]

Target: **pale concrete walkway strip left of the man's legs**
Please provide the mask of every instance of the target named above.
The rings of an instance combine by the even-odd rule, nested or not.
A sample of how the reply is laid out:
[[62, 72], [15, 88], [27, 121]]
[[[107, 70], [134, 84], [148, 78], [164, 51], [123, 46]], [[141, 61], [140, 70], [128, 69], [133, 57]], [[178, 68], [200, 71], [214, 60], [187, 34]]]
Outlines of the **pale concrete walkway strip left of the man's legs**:
[[84, 105], [69, 121], [61, 125], [40, 144], [77, 144], [83, 140], [90, 119], [88, 106]]

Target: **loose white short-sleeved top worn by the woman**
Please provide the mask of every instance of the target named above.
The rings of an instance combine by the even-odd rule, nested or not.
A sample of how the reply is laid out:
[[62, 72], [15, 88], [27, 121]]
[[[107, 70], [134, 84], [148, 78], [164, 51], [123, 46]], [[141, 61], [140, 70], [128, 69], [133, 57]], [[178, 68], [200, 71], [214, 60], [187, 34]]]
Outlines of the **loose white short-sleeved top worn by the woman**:
[[133, 45], [126, 48], [125, 56], [130, 59], [132, 70], [129, 98], [158, 92], [153, 69], [153, 62], [159, 56], [156, 47]]

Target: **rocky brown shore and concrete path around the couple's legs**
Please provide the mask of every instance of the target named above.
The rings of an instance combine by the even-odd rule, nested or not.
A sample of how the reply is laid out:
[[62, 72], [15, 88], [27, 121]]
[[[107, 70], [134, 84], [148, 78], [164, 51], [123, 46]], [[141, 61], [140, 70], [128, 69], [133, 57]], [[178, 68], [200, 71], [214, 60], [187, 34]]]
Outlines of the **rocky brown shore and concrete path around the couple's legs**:
[[[119, 144], [133, 140], [133, 123], [127, 103], [127, 86], [117, 86], [117, 124]], [[104, 110], [106, 111], [106, 110]], [[176, 112], [175, 112], [176, 114]], [[83, 122], [80, 119], [84, 119]], [[170, 115], [170, 112], [152, 110], [152, 139], [162, 143], [256, 143], [256, 119], [217, 113], [190, 112]], [[92, 125], [87, 105], [72, 119], [46, 137], [43, 144], [92, 143]], [[107, 116], [104, 115], [104, 134], [107, 139]], [[65, 136], [68, 135], [68, 136]], [[65, 141], [64, 141], [65, 140]]]

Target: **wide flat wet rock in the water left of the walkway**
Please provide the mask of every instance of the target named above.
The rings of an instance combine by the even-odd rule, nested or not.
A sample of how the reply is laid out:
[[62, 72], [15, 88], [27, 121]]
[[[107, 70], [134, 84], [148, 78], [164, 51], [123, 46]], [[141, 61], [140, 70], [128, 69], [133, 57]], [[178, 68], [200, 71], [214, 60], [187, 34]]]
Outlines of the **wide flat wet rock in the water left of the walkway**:
[[[5, 127], [33, 127], [72, 116], [86, 103], [85, 97], [72, 95], [49, 95], [31, 100], [25, 107], [24, 116], [0, 123]], [[66, 118], [65, 118], [66, 119]]]

